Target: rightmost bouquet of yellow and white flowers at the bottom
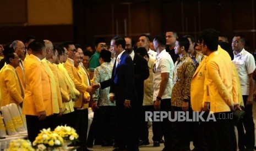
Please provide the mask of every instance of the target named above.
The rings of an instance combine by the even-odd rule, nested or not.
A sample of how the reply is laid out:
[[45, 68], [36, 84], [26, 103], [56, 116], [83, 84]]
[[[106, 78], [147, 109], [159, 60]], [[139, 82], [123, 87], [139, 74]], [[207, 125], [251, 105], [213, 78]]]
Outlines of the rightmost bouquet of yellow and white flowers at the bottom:
[[70, 143], [74, 143], [78, 141], [78, 134], [75, 132], [75, 129], [70, 126], [57, 126], [54, 130], [59, 136], [61, 136], [64, 140], [63, 148], [67, 149], [67, 146]]

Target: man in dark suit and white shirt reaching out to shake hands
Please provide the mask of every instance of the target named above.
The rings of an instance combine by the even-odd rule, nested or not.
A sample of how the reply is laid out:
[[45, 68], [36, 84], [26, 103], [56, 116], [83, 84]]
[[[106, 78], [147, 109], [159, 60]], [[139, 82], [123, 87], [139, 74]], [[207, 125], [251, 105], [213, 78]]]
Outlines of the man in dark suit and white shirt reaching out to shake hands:
[[110, 86], [110, 101], [116, 101], [118, 148], [114, 150], [139, 150], [138, 136], [135, 129], [135, 117], [138, 110], [138, 99], [134, 84], [134, 67], [132, 58], [124, 50], [126, 40], [114, 37], [111, 50], [117, 54], [112, 77], [95, 84], [94, 88], [105, 89]]

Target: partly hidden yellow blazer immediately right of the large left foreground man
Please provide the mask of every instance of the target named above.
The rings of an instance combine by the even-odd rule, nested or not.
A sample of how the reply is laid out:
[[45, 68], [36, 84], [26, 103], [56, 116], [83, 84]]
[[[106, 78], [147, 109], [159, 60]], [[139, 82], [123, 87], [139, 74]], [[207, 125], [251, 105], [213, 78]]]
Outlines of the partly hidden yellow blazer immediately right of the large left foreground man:
[[59, 108], [62, 108], [61, 90], [59, 89], [59, 83], [58, 80], [56, 80], [50, 68], [50, 66], [52, 66], [52, 63], [47, 61], [46, 59], [42, 59], [42, 65], [50, 77], [53, 113], [58, 114]]

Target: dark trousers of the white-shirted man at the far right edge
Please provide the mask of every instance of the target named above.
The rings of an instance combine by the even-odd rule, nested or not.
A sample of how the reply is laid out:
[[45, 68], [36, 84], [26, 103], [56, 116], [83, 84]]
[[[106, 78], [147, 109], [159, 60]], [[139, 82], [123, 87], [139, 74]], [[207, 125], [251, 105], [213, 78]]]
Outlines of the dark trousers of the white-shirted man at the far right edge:
[[[238, 148], [243, 150], [244, 146], [247, 149], [253, 149], [255, 143], [254, 122], [253, 122], [253, 104], [246, 105], [248, 95], [243, 95], [245, 114], [242, 122], [237, 125], [238, 131]], [[244, 133], [246, 130], [246, 133]]]

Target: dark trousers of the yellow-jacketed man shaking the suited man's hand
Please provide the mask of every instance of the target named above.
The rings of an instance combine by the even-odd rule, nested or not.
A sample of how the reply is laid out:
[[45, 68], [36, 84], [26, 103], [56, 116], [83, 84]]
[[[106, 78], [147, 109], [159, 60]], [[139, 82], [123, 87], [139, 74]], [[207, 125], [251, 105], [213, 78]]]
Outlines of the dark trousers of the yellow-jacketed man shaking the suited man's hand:
[[88, 109], [77, 109], [74, 108], [74, 129], [77, 130], [79, 135], [78, 146], [81, 147], [81, 150], [86, 149], [86, 138], [87, 138], [87, 129], [88, 129]]

